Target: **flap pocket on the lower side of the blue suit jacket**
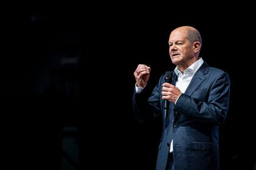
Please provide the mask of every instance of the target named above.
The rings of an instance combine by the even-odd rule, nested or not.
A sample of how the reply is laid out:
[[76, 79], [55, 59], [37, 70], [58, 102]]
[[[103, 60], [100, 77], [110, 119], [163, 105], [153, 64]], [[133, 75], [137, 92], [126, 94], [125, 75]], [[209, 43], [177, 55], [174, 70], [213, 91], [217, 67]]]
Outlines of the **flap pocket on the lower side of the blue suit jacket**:
[[199, 151], [217, 151], [217, 146], [213, 142], [209, 141], [192, 141], [190, 144], [192, 150], [199, 150]]

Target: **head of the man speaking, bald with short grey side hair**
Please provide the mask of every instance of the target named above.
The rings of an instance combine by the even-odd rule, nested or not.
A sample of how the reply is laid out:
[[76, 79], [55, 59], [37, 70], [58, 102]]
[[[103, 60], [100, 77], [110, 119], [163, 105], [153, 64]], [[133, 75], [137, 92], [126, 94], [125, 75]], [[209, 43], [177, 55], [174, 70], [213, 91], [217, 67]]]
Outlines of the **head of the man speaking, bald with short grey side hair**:
[[196, 29], [189, 26], [178, 27], [169, 36], [172, 63], [181, 69], [187, 69], [198, 59], [201, 46], [201, 35]]

